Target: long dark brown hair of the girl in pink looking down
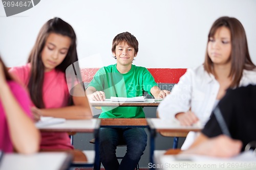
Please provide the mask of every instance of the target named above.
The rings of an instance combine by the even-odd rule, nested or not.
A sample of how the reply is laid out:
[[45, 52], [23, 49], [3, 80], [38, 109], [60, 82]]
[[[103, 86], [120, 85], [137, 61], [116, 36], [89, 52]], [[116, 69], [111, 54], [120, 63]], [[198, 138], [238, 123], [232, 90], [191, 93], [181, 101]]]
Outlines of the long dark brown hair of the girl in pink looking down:
[[[71, 38], [71, 45], [69, 47], [67, 56], [55, 69], [65, 73], [69, 65], [78, 61], [76, 51], [76, 34], [73, 28], [69, 25], [69, 23], [57, 17], [47, 21], [39, 31], [36, 42], [28, 59], [28, 62], [31, 63], [28, 89], [32, 102], [38, 108], [45, 107], [42, 99], [42, 85], [44, 82], [45, 66], [44, 63], [42, 63], [41, 52], [50, 33], [56, 33]], [[70, 98], [69, 103], [72, 103], [72, 98]]]

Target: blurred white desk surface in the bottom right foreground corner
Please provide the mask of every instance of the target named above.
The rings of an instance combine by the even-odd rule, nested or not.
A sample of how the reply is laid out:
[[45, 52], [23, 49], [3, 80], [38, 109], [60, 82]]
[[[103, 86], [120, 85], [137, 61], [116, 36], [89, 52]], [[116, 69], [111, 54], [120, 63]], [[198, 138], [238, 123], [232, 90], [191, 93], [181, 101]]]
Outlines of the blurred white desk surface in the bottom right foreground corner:
[[256, 155], [252, 151], [243, 152], [231, 158], [205, 155], [160, 155], [156, 159], [162, 170], [174, 169], [256, 169]]

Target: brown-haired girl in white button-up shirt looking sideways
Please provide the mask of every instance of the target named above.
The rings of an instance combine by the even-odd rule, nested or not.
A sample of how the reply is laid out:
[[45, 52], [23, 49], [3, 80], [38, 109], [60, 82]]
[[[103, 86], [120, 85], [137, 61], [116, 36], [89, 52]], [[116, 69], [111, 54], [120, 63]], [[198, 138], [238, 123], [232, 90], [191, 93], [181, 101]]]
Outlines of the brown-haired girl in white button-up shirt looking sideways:
[[[248, 84], [256, 84], [256, 66], [249, 56], [245, 30], [238, 19], [221, 17], [209, 31], [203, 65], [187, 69], [157, 112], [160, 118], [178, 120], [184, 126], [205, 125], [227, 88]], [[189, 132], [181, 149], [187, 149], [196, 135]]]

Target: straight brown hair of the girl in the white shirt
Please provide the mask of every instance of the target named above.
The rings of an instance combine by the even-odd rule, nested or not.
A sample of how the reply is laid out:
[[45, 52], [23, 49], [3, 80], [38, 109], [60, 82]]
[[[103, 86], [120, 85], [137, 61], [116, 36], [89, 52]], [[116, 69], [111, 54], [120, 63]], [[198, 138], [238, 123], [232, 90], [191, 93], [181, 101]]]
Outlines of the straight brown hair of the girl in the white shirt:
[[[231, 70], [229, 76], [233, 78], [230, 87], [238, 87], [243, 75], [243, 69], [252, 70], [256, 66], [252, 63], [248, 51], [247, 39], [242, 23], [232, 17], [221, 17], [217, 19], [211, 26], [208, 34], [208, 42], [210, 37], [214, 37], [216, 31], [220, 27], [226, 27], [231, 34]], [[208, 56], [207, 50], [205, 54], [204, 69], [214, 74], [213, 63]]]

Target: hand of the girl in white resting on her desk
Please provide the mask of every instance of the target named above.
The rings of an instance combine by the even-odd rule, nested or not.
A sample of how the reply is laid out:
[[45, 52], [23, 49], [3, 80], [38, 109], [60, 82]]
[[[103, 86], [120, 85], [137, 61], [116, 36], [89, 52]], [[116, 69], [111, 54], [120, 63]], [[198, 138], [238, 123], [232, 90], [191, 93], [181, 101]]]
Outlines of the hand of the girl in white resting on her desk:
[[179, 120], [180, 124], [183, 126], [191, 126], [198, 122], [198, 117], [194, 112], [190, 110], [187, 112], [177, 113], [175, 117]]

